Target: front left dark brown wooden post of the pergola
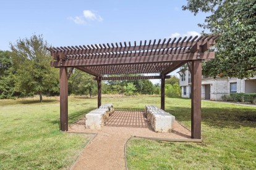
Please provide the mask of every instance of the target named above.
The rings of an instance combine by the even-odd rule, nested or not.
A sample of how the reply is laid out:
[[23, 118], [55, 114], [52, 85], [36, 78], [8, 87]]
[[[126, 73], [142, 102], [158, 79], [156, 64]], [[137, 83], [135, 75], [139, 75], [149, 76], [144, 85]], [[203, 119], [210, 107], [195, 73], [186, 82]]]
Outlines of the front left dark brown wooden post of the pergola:
[[59, 98], [60, 98], [60, 117], [61, 131], [68, 131], [68, 110], [67, 110], [67, 68], [59, 68]]

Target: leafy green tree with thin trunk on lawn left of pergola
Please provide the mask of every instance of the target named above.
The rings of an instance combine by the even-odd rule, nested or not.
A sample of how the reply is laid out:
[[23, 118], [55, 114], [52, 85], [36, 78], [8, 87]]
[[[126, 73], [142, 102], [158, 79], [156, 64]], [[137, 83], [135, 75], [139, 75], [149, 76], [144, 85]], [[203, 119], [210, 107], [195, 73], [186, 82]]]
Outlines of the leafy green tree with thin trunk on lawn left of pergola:
[[41, 35], [19, 39], [11, 43], [11, 57], [15, 74], [15, 91], [42, 95], [58, 86], [58, 70], [50, 66], [48, 43]]

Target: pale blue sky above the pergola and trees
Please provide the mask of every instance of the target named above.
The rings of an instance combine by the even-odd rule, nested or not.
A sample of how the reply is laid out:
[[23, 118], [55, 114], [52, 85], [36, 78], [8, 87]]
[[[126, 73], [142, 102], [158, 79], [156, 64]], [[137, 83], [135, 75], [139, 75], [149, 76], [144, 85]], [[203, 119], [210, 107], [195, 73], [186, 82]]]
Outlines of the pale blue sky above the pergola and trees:
[[163, 39], [202, 31], [206, 14], [183, 11], [187, 1], [2, 1], [0, 50], [43, 34], [52, 46]]

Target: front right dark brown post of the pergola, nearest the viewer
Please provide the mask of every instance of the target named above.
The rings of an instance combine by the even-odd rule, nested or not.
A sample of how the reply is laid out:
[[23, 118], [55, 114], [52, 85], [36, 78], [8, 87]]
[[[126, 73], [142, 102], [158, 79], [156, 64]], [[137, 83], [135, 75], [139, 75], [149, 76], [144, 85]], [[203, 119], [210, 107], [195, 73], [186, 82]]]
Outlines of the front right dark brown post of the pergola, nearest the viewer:
[[192, 61], [191, 137], [201, 139], [202, 60]]

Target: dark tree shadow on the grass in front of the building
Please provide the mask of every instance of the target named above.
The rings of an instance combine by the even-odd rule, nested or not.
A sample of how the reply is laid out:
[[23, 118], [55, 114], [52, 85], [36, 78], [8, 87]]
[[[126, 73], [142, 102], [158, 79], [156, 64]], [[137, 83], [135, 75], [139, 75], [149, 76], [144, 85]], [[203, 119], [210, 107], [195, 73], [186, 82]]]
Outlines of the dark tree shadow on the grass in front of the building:
[[[171, 107], [166, 110], [176, 116], [178, 121], [191, 121], [190, 107]], [[255, 108], [218, 108], [204, 107], [202, 108], [202, 123], [208, 124], [216, 128], [233, 128], [256, 127], [256, 111]]]

